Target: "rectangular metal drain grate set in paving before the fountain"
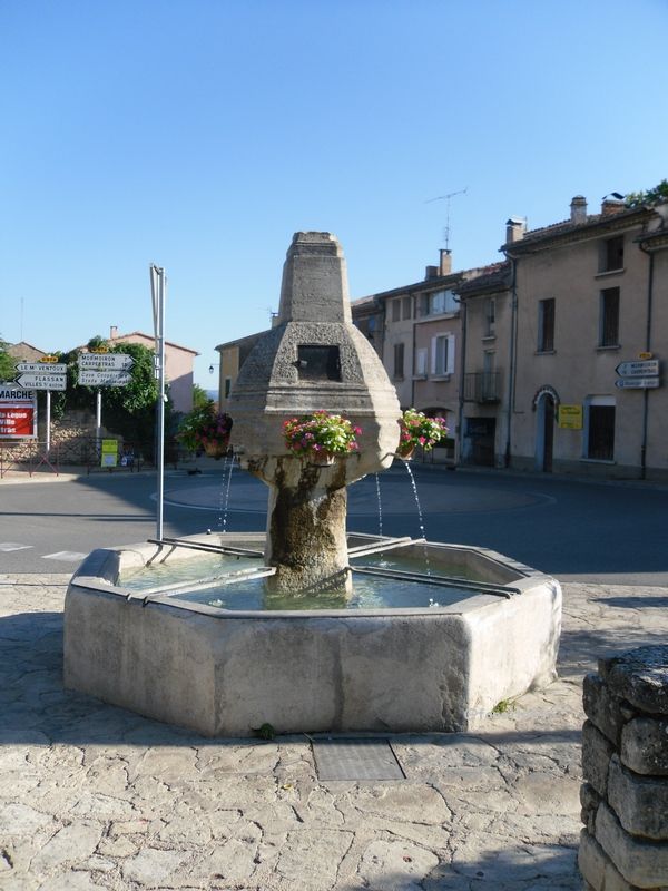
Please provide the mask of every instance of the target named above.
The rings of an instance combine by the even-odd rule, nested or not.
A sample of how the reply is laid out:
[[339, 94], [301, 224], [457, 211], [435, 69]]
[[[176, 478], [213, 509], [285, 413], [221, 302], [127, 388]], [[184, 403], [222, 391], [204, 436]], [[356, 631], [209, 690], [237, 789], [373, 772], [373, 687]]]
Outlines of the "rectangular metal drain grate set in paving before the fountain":
[[318, 780], [405, 780], [389, 740], [313, 740]]

